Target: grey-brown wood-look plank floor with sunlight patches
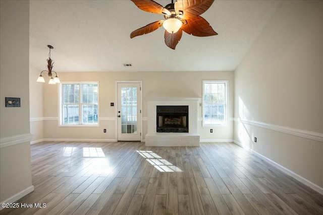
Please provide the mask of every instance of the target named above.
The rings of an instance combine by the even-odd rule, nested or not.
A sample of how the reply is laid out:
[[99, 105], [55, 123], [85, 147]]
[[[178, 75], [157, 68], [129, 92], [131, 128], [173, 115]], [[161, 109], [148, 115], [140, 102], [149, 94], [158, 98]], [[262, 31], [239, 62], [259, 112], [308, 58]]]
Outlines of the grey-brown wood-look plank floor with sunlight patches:
[[232, 143], [31, 146], [35, 190], [1, 214], [323, 214], [323, 196]]

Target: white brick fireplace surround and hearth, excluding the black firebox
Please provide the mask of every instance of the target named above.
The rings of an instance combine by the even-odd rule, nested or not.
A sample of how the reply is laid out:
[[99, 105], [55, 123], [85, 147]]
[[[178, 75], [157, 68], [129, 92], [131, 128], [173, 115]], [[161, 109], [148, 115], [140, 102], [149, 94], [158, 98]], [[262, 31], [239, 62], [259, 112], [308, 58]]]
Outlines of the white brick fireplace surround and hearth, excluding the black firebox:
[[[147, 128], [146, 146], [199, 146], [200, 136], [197, 133], [197, 110], [201, 98], [191, 97], [146, 97]], [[159, 133], [156, 132], [156, 107], [160, 105], [187, 105], [189, 114], [188, 133]]]

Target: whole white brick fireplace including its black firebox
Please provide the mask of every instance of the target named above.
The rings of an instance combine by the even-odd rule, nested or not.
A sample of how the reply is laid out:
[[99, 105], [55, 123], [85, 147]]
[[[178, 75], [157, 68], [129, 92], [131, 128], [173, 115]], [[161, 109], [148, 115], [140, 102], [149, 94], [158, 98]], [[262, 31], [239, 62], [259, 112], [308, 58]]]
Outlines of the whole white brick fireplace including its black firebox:
[[199, 98], [145, 99], [148, 110], [146, 146], [199, 146], [200, 136], [197, 133]]

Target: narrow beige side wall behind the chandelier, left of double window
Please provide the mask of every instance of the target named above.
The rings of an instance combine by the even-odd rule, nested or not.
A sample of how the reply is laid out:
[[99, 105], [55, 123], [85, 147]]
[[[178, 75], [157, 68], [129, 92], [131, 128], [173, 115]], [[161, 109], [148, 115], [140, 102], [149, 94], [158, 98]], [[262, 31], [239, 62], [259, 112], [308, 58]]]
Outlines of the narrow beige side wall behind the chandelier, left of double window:
[[43, 83], [36, 82], [40, 71], [29, 65], [29, 104], [30, 104], [30, 133], [33, 135], [31, 144], [44, 139], [43, 114]]

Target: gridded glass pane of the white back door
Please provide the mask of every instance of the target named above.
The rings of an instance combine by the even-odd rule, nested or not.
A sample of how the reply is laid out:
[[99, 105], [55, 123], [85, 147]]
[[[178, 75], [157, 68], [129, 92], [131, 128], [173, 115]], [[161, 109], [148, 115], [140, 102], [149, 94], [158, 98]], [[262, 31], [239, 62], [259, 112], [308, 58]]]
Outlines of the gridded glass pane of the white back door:
[[121, 133], [137, 133], [137, 88], [121, 88]]

